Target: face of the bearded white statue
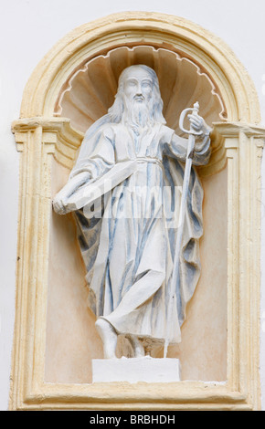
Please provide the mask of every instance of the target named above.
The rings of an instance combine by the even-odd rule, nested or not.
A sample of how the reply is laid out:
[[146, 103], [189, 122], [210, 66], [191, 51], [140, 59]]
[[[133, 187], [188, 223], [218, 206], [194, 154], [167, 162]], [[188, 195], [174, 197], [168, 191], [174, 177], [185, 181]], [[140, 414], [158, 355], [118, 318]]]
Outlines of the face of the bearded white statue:
[[133, 68], [124, 78], [123, 89], [130, 102], [146, 104], [152, 97], [152, 78], [143, 68]]

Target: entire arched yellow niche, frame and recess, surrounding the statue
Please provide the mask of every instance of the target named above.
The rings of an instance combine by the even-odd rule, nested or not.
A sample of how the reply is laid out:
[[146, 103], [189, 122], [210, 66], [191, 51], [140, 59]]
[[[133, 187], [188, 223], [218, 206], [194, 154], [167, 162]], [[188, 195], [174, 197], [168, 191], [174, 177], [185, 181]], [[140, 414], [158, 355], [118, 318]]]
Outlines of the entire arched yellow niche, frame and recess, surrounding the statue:
[[81, 26], [58, 42], [29, 79], [13, 124], [22, 159], [11, 408], [36, 408], [40, 392], [47, 409], [133, 408], [135, 398], [147, 400], [141, 384], [102, 390], [91, 383], [90, 361], [101, 357], [101, 341], [86, 308], [75, 228], [70, 215], [51, 210], [84, 131], [111, 106], [122, 69], [139, 63], [157, 72], [164, 115], [176, 132], [180, 111], [196, 100], [213, 126], [211, 160], [199, 170], [206, 194], [202, 277], [183, 342], [170, 351], [182, 360], [184, 380], [156, 386], [148, 407], [259, 406], [259, 347], [253, 332], [244, 331], [247, 322], [258, 329], [259, 311], [256, 196], [264, 131], [255, 89], [230, 49], [203, 28], [175, 16], [126, 13]]

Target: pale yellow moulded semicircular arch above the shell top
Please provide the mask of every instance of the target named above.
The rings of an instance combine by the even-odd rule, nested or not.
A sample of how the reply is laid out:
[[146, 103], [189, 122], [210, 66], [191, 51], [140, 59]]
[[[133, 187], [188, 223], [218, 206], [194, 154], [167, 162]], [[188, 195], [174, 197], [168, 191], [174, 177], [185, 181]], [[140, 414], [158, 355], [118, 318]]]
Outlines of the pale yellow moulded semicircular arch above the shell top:
[[143, 12], [107, 16], [62, 38], [29, 78], [21, 118], [52, 116], [59, 90], [83, 61], [113, 47], [141, 44], [181, 52], [206, 70], [222, 94], [229, 121], [260, 122], [249, 74], [221, 39], [183, 18]]

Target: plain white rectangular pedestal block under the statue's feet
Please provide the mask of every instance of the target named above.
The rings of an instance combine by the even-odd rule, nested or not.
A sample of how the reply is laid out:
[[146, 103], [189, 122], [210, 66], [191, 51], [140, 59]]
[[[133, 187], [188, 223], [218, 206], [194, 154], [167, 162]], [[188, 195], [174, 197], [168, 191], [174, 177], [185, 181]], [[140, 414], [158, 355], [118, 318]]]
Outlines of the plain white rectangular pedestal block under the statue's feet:
[[178, 359], [94, 359], [93, 382], [180, 382]]

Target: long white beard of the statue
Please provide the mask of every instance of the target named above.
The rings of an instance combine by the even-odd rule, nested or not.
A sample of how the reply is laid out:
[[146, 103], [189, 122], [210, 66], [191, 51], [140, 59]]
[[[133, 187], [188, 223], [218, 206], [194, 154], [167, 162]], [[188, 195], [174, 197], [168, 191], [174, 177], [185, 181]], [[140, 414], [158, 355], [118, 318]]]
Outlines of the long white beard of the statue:
[[124, 111], [122, 115], [122, 122], [133, 129], [144, 129], [146, 127], [154, 126], [154, 118], [152, 109], [147, 104], [146, 100], [142, 102], [128, 99], [124, 100]]

